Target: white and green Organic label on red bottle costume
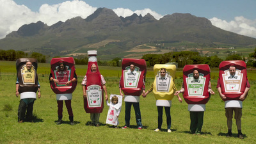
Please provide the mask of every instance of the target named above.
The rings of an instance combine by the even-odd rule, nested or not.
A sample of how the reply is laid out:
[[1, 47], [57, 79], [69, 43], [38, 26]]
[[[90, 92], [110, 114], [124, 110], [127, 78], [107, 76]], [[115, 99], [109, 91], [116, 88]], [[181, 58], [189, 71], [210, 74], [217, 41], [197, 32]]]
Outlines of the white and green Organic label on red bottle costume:
[[193, 73], [188, 74], [186, 77], [186, 83], [188, 86], [188, 95], [190, 96], [202, 96], [204, 93], [205, 77], [204, 74], [199, 73], [198, 79], [193, 77]]

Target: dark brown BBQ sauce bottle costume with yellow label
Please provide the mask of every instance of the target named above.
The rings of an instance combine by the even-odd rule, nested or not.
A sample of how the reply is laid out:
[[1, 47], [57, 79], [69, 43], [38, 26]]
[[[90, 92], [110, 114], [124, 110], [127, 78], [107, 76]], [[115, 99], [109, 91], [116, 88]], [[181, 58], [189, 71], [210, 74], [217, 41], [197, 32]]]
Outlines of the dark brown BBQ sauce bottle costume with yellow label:
[[[32, 63], [31, 70], [27, 70], [26, 62]], [[20, 99], [36, 99], [38, 90], [37, 60], [34, 58], [20, 58], [16, 61], [17, 79], [19, 80]]]

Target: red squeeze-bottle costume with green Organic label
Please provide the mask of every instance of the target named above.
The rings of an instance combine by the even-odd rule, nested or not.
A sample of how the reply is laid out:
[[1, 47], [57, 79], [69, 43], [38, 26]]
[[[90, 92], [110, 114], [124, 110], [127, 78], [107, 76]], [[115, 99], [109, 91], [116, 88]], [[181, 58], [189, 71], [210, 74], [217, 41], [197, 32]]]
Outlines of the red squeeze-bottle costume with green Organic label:
[[[198, 70], [199, 78], [194, 79], [193, 71]], [[183, 68], [184, 100], [189, 111], [205, 111], [205, 104], [210, 99], [208, 92], [210, 81], [209, 65], [185, 65]]]

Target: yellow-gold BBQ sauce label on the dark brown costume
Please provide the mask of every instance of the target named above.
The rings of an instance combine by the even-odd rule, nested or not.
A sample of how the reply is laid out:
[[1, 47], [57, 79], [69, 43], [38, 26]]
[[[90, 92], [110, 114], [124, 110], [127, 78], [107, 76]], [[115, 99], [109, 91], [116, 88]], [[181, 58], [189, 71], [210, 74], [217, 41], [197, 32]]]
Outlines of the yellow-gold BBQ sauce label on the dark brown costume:
[[24, 65], [20, 71], [22, 76], [22, 81], [24, 84], [35, 84], [36, 81], [36, 70], [33, 65], [31, 65], [31, 69], [28, 70], [26, 65]]

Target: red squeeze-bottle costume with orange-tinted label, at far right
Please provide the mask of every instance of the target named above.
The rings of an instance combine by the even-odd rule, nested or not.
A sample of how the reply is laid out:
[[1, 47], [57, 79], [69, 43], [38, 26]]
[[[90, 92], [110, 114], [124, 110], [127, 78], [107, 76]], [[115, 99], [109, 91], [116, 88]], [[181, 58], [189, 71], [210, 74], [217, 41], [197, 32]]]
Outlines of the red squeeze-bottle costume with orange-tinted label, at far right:
[[[230, 66], [236, 67], [235, 76], [230, 76]], [[225, 99], [225, 108], [243, 108], [243, 102], [239, 100], [239, 97], [246, 88], [246, 63], [239, 60], [222, 61], [219, 68], [221, 93], [227, 97]]]

